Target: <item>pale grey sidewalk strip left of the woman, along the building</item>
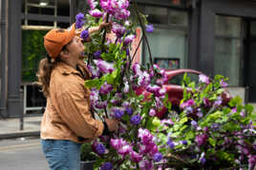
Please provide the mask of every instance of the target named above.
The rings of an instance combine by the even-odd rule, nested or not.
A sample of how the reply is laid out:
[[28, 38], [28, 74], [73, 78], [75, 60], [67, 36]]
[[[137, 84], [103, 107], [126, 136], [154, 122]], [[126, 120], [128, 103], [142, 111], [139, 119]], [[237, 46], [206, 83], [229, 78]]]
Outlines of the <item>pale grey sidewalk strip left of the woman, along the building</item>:
[[41, 120], [42, 116], [24, 117], [23, 130], [20, 130], [19, 118], [1, 119], [0, 140], [20, 137], [39, 137]]

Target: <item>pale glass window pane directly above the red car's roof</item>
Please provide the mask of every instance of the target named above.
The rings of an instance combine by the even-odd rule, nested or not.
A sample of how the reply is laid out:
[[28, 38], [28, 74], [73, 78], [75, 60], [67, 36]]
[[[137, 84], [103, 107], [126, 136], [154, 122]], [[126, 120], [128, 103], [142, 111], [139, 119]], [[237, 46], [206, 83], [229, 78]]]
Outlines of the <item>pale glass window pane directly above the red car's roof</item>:
[[[183, 30], [172, 30], [170, 28], [155, 28], [153, 33], [148, 33], [153, 61], [155, 58], [180, 59], [180, 67], [185, 67], [187, 38]], [[144, 43], [145, 44], [145, 43]], [[144, 46], [144, 64], [149, 63], [149, 52]]]

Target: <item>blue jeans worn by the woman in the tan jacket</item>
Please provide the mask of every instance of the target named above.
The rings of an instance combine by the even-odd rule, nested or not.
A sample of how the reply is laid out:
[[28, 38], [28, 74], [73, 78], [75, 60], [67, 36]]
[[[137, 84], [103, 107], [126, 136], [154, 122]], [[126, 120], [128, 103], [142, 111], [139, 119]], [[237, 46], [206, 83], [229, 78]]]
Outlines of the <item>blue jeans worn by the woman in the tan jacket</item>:
[[80, 170], [80, 143], [65, 140], [41, 140], [51, 170]]

